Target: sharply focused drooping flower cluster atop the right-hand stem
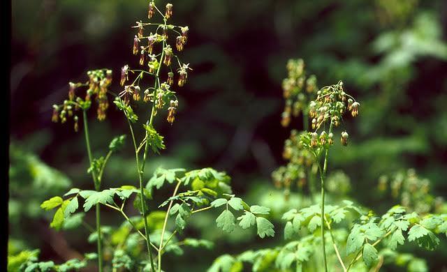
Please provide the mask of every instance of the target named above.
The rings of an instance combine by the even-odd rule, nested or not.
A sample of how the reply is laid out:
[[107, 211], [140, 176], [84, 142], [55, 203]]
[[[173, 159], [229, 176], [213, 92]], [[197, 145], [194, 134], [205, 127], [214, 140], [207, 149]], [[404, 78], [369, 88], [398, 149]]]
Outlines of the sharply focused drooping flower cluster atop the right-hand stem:
[[[346, 111], [351, 116], [358, 116], [360, 104], [346, 93], [343, 89], [343, 82], [335, 85], [325, 86], [317, 91], [317, 97], [309, 103], [309, 117], [312, 119], [312, 133], [302, 135], [302, 143], [310, 149], [324, 147], [328, 149], [334, 143], [332, 128], [337, 127], [343, 120]], [[326, 132], [326, 124], [329, 124]], [[321, 130], [321, 133], [318, 131]], [[346, 146], [349, 134], [343, 131], [340, 135], [340, 142]]]

